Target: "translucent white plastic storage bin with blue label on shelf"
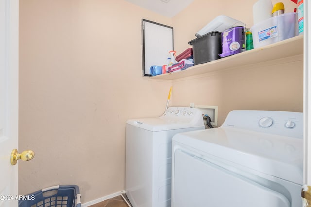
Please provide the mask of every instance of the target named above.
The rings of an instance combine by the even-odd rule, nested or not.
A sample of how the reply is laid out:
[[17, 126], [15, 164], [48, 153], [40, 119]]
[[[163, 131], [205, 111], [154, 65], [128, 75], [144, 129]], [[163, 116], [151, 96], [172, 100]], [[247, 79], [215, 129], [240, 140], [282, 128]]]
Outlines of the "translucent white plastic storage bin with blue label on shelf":
[[299, 34], [298, 14], [284, 13], [271, 17], [251, 27], [254, 48], [260, 48]]

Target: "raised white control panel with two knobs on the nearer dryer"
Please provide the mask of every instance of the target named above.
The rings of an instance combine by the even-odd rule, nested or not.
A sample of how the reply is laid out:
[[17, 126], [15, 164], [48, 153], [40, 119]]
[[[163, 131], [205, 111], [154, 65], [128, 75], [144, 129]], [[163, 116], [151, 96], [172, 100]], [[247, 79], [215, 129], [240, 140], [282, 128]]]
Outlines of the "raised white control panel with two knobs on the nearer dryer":
[[303, 138], [303, 113], [288, 111], [231, 111], [224, 127]]

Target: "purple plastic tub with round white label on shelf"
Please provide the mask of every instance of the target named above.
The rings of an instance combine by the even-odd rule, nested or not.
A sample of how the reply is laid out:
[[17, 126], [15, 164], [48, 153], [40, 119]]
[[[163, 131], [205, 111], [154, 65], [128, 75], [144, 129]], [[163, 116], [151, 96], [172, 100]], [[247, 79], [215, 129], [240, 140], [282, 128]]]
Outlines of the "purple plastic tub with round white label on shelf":
[[222, 54], [220, 57], [226, 57], [240, 52], [245, 49], [245, 27], [232, 27], [225, 30], [222, 36]]

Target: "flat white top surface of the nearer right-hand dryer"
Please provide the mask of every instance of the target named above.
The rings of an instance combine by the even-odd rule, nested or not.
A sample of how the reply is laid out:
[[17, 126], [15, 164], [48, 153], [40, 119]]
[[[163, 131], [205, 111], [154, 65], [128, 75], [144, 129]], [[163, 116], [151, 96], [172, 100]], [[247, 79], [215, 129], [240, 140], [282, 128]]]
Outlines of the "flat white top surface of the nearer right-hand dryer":
[[180, 133], [173, 142], [264, 174], [297, 184], [303, 182], [302, 139], [220, 127]]

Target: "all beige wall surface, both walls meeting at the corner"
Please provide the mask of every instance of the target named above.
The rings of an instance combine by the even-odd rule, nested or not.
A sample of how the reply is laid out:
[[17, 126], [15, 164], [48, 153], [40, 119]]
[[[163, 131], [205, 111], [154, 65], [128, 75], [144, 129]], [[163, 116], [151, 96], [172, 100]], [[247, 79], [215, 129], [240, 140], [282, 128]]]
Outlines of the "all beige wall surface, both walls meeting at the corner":
[[219, 125], [233, 109], [302, 111], [302, 57], [172, 83], [142, 77], [142, 18], [172, 25], [179, 53], [218, 15], [251, 26], [255, 1], [195, 0], [166, 18], [124, 0], [21, 0], [19, 149], [35, 158], [19, 163], [19, 193], [77, 184], [85, 203], [124, 190], [125, 122], [159, 116], [171, 85], [173, 105], [219, 106]]

